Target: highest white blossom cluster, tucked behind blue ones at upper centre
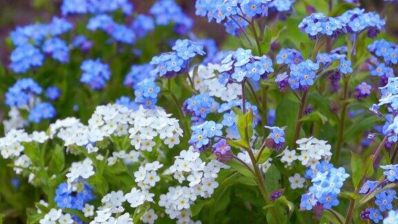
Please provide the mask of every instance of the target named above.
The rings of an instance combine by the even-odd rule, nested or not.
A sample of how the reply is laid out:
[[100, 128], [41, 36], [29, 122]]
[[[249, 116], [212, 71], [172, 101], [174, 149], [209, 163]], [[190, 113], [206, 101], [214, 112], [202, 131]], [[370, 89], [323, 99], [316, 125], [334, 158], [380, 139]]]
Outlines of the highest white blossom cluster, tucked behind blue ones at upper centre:
[[210, 96], [218, 97], [222, 101], [229, 102], [236, 100], [242, 95], [242, 86], [237, 83], [220, 84], [219, 75], [216, 71], [220, 68], [219, 64], [207, 64], [198, 66], [198, 75], [193, 77], [193, 71], [189, 73], [193, 77], [193, 83], [200, 93], [209, 93]]

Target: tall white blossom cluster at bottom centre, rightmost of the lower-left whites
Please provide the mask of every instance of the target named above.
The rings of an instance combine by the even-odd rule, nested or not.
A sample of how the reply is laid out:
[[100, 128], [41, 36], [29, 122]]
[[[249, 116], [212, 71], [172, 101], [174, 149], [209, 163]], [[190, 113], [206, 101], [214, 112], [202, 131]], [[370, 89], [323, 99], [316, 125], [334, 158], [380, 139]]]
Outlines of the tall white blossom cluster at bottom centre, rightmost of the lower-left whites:
[[160, 195], [159, 205], [165, 208], [165, 212], [171, 219], [177, 218], [178, 223], [190, 223], [189, 208], [198, 197], [209, 198], [218, 187], [216, 178], [221, 168], [228, 166], [210, 160], [206, 164], [199, 158], [200, 153], [190, 147], [182, 150], [176, 156], [174, 164], [164, 174], [171, 174], [179, 183], [187, 183], [187, 186], [169, 187], [167, 194]]

